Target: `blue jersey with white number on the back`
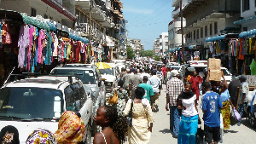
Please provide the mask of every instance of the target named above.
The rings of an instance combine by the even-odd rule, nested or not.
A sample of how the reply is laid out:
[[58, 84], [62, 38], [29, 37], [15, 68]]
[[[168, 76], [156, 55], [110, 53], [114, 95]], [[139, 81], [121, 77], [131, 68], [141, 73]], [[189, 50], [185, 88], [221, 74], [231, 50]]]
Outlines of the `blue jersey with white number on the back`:
[[202, 109], [207, 111], [204, 112], [203, 119], [205, 124], [209, 127], [219, 127], [220, 117], [219, 108], [223, 107], [220, 97], [217, 93], [207, 91], [202, 98]]

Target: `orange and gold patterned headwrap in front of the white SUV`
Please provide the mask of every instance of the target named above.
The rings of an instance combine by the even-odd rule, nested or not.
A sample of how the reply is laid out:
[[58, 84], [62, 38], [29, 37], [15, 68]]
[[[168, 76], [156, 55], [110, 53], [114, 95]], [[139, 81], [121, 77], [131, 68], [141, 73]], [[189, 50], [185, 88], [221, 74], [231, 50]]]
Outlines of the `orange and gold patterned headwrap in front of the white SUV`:
[[79, 118], [76, 112], [66, 111], [61, 114], [58, 130], [55, 131], [57, 142], [79, 143], [84, 138], [84, 121]]

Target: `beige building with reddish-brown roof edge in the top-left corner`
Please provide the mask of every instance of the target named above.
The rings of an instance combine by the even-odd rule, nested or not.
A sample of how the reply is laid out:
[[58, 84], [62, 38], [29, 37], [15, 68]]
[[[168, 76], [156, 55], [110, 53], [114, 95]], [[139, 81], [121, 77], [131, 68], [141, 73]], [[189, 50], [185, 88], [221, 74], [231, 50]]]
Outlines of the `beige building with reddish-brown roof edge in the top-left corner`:
[[72, 7], [73, 0], [2, 0], [0, 5], [0, 9], [14, 10], [31, 17], [41, 15], [44, 19], [54, 20], [70, 28], [73, 28], [77, 19]]

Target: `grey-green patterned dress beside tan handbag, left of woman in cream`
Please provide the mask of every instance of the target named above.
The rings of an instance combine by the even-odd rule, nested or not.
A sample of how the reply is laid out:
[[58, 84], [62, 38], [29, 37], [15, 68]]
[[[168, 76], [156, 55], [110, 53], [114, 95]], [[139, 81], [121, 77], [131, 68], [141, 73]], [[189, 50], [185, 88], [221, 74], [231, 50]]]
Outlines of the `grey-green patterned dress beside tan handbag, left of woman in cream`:
[[[113, 89], [113, 91], [111, 92], [111, 95], [113, 95], [114, 90], [115, 89]], [[118, 103], [113, 104], [113, 106], [117, 108], [118, 115], [123, 116], [123, 111], [125, 109], [126, 102], [129, 100], [129, 96], [128, 96], [127, 90], [125, 89], [122, 89], [122, 90], [117, 89], [117, 94], [119, 96]]]

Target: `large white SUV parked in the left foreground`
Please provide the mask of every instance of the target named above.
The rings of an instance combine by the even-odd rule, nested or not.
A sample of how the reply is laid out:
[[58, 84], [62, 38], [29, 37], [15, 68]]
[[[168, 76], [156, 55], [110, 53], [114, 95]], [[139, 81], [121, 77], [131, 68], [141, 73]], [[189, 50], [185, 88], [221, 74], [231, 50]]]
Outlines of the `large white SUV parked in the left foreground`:
[[44, 76], [25, 78], [3, 85], [0, 89], [0, 130], [13, 125], [19, 131], [20, 143], [33, 130], [58, 130], [61, 113], [81, 114], [86, 126], [84, 142], [91, 137], [92, 100], [77, 77]]

